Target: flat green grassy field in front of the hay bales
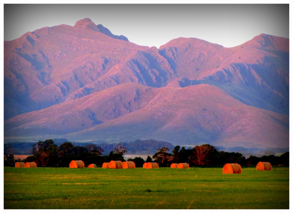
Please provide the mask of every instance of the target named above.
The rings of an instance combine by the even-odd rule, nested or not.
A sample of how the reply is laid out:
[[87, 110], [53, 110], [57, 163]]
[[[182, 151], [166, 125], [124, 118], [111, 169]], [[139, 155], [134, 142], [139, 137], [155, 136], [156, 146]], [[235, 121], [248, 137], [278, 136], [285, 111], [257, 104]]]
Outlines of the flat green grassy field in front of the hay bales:
[[4, 209], [289, 209], [289, 167], [4, 167]]

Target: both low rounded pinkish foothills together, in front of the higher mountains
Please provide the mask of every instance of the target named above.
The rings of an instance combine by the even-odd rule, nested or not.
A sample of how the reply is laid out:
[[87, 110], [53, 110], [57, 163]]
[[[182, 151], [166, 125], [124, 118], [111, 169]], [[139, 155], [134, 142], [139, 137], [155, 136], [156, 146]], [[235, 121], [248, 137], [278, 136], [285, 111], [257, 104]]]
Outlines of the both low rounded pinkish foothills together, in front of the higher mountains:
[[11, 118], [5, 121], [4, 136], [288, 147], [288, 124], [288, 116], [247, 106], [212, 85], [125, 83]]

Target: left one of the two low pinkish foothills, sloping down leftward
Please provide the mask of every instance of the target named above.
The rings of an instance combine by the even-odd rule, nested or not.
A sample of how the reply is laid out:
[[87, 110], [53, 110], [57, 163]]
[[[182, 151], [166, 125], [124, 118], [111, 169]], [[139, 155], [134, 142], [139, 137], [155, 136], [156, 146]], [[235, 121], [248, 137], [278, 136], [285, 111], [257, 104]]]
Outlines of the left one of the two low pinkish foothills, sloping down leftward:
[[155, 88], [125, 83], [4, 121], [8, 136], [67, 134], [94, 127], [147, 105]]

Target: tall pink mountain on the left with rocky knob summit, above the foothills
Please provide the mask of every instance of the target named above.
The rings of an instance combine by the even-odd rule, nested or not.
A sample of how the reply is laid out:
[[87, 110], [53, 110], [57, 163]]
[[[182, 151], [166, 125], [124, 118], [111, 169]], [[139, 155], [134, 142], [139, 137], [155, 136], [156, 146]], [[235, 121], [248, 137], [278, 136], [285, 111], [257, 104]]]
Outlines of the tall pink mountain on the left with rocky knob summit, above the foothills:
[[89, 19], [4, 42], [4, 119], [121, 83], [161, 87], [177, 78], [156, 48], [114, 39]]

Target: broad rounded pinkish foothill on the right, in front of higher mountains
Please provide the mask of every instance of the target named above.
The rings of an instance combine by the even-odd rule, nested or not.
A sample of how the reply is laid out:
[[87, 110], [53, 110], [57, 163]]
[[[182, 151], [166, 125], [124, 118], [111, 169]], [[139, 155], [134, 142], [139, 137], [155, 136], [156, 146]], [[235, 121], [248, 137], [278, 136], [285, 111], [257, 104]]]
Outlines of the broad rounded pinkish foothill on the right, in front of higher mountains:
[[154, 138], [173, 144], [288, 147], [289, 118], [242, 104], [212, 85], [160, 88], [144, 108], [70, 139], [129, 140]]

